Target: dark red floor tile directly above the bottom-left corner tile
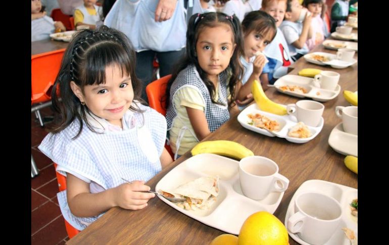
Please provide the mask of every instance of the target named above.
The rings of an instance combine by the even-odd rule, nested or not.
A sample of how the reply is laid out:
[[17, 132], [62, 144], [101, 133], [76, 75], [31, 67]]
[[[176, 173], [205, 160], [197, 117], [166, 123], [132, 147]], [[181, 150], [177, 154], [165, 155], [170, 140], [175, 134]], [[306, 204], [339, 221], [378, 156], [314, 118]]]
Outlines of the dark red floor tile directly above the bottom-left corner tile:
[[53, 202], [47, 202], [42, 206], [39, 206], [39, 208], [31, 212], [31, 234], [34, 234], [40, 228], [56, 219], [59, 215], [61, 215], [60, 207]]

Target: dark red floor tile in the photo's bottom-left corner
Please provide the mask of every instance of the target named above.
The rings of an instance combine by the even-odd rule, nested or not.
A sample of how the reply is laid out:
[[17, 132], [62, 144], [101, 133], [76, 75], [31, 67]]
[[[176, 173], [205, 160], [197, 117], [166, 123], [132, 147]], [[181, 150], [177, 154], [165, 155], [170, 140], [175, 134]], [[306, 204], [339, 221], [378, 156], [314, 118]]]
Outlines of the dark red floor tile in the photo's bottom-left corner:
[[31, 245], [57, 244], [67, 236], [65, 221], [61, 215], [61, 217], [58, 217], [52, 223], [31, 236]]

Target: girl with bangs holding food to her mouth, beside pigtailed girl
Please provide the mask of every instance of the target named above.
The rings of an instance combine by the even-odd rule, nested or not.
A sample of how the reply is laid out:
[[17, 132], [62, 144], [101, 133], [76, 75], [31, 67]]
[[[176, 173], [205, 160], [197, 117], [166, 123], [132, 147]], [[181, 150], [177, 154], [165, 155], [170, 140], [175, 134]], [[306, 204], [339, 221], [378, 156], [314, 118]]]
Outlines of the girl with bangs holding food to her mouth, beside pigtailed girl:
[[[263, 83], [260, 75], [267, 59], [262, 52], [266, 45], [274, 39], [277, 27], [273, 17], [262, 10], [258, 10], [246, 15], [242, 21], [242, 29], [245, 38], [245, 49], [244, 54], [240, 57], [240, 62], [245, 71], [242, 77], [243, 85], [237, 95], [238, 103], [252, 97], [251, 86], [254, 80], [260, 80]], [[267, 84], [268, 80], [265, 80], [265, 83], [263, 83], [264, 89], [267, 89]]]

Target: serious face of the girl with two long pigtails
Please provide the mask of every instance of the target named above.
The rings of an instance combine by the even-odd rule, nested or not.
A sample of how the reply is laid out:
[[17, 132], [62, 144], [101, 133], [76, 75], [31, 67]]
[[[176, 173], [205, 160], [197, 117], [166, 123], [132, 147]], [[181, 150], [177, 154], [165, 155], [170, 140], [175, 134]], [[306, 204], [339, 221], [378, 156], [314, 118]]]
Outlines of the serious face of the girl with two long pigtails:
[[227, 24], [201, 30], [196, 52], [200, 67], [208, 77], [218, 75], [228, 67], [235, 46], [232, 30]]

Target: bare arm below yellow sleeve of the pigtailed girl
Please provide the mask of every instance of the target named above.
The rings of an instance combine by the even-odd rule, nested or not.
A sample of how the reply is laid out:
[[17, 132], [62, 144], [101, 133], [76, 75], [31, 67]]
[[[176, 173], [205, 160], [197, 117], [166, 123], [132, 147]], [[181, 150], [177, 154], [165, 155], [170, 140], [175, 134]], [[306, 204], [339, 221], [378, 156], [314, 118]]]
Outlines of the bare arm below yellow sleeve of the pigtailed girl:
[[188, 114], [190, 124], [193, 127], [194, 133], [200, 141], [203, 140], [206, 136], [208, 136], [208, 134], [211, 133], [204, 111], [190, 107], [185, 107], [185, 109], [186, 113]]

